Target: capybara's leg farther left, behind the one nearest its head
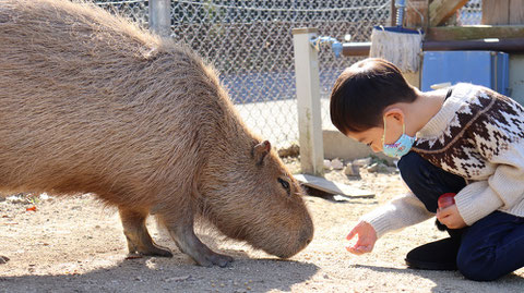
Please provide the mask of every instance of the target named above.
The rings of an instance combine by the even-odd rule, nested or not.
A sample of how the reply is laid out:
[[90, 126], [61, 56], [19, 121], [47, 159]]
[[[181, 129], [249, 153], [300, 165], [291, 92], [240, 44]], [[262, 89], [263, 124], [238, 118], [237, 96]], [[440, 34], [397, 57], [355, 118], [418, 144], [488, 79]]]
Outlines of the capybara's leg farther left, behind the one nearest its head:
[[171, 252], [156, 245], [151, 239], [150, 232], [147, 232], [145, 225], [145, 219], [148, 215], [146, 210], [119, 207], [118, 211], [120, 212], [120, 219], [122, 220], [123, 234], [128, 240], [130, 254], [165, 257], [172, 256]]

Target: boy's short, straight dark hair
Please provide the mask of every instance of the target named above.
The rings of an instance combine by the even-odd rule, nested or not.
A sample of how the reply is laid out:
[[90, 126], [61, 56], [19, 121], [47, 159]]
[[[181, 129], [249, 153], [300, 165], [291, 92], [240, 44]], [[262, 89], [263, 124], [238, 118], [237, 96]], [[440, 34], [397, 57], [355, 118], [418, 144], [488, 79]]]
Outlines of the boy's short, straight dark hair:
[[417, 98], [401, 71], [379, 58], [359, 61], [344, 70], [333, 86], [331, 121], [344, 134], [382, 125], [384, 109]]

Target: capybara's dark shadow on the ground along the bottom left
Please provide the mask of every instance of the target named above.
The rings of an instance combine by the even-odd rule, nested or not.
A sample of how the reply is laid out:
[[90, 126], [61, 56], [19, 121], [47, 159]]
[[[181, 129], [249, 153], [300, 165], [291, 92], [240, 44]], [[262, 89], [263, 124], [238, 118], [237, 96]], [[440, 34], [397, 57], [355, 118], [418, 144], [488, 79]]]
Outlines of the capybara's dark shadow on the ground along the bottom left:
[[[265, 292], [290, 291], [319, 267], [294, 260], [253, 259], [228, 251], [226, 268], [193, 265], [183, 254], [172, 258], [123, 259], [81, 274], [0, 278], [0, 292]], [[1, 266], [0, 266], [1, 268]]]

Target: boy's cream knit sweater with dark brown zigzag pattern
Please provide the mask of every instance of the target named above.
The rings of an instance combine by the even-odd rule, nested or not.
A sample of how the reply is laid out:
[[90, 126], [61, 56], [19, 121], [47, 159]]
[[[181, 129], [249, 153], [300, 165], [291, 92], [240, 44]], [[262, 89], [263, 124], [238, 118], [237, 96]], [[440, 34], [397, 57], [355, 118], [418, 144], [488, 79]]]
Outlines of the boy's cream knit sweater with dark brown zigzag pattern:
[[[489, 88], [457, 84], [440, 111], [417, 133], [412, 150], [468, 183], [456, 196], [472, 225], [495, 210], [524, 217], [524, 109]], [[434, 213], [413, 194], [365, 215], [377, 235]]]

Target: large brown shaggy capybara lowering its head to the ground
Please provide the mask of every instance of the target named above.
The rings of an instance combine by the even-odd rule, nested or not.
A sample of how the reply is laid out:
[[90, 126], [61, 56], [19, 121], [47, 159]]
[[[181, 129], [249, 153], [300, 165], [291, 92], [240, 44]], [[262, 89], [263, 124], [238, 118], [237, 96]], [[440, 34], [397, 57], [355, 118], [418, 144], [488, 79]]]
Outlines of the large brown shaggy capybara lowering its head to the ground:
[[311, 241], [302, 190], [188, 48], [88, 3], [0, 0], [0, 192], [92, 193], [117, 206], [130, 253], [226, 266], [193, 232], [287, 258]]

